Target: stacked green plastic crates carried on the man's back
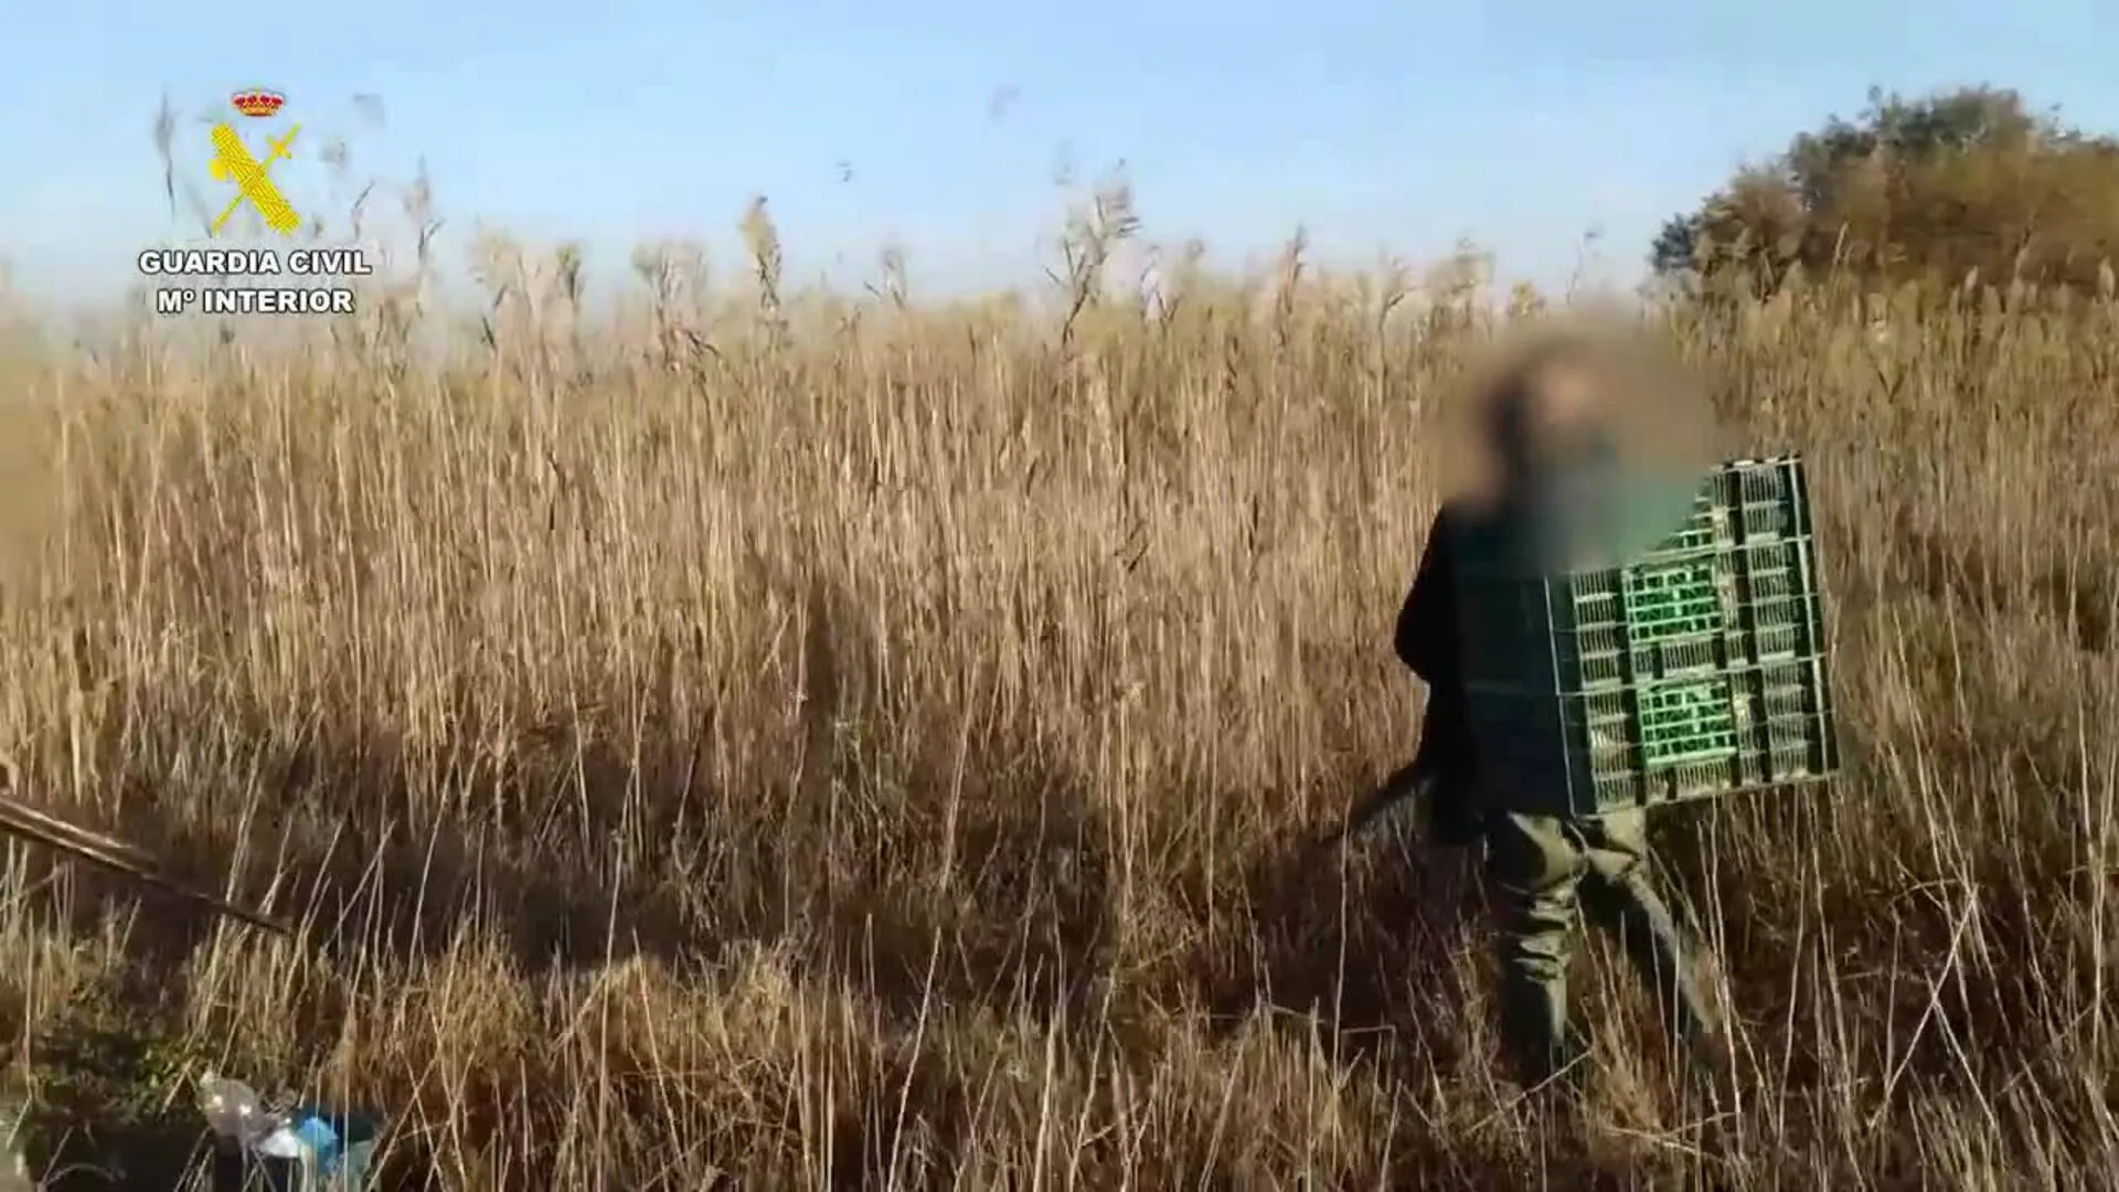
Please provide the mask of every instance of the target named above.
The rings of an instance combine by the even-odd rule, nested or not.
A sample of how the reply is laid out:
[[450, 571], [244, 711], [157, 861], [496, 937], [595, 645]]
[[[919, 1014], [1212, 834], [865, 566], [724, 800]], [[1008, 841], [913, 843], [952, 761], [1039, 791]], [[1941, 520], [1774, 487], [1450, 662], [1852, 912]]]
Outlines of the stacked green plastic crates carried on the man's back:
[[1504, 806], [1600, 814], [1839, 768], [1799, 456], [1723, 464], [1630, 566], [1521, 575], [1504, 534], [1458, 543], [1471, 728]]

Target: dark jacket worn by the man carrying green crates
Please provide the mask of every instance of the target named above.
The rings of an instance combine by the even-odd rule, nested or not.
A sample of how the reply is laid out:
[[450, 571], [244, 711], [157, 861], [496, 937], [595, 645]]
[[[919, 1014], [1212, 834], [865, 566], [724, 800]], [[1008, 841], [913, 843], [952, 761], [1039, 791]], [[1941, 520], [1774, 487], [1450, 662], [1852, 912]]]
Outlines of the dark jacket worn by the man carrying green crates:
[[1452, 528], [1456, 513], [1443, 507], [1428, 528], [1420, 571], [1399, 607], [1394, 647], [1399, 662], [1428, 685], [1428, 708], [1420, 728], [1413, 766], [1432, 781], [1432, 825], [1443, 842], [1477, 838], [1483, 814], [1475, 785], [1471, 717], [1464, 702], [1464, 664], [1458, 647], [1456, 575], [1452, 571]]

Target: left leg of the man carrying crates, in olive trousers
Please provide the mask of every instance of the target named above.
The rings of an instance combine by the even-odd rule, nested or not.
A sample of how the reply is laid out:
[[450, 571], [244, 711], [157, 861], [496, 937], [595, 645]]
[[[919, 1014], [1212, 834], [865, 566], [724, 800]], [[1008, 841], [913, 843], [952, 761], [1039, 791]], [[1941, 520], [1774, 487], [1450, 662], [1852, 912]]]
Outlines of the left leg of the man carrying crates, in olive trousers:
[[1500, 929], [1500, 1035], [1524, 1088], [1579, 1077], [1568, 1031], [1568, 957], [1581, 848], [1551, 817], [1494, 814], [1488, 876]]

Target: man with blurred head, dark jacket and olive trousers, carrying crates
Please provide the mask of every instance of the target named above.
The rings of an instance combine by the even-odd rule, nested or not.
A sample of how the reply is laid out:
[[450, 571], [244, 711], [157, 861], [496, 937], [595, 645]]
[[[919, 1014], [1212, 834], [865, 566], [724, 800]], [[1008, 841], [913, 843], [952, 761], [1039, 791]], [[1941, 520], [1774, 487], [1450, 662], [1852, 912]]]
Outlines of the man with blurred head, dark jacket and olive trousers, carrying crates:
[[[1494, 498], [1509, 505], [1553, 469], [1598, 443], [1600, 358], [1587, 344], [1530, 352], [1485, 407], [1485, 450], [1496, 462]], [[1490, 806], [1464, 706], [1452, 549], [1473, 503], [1449, 503], [1428, 530], [1411, 592], [1399, 611], [1396, 653], [1428, 685], [1413, 759], [1430, 797], [1430, 831], [1443, 844], [1483, 840], [1500, 929], [1502, 1041], [1526, 1088], [1581, 1075], [1581, 1037], [1568, 1029], [1566, 967], [1577, 912], [1619, 931], [1634, 967], [1657, 991], [1672, 1027], [1727, 1090], [1721, 1020], [1697, 969], [1699, 946], [1666, 906], [1649, 874], [1646, 812], [1593, 819], [1521, 814]]]

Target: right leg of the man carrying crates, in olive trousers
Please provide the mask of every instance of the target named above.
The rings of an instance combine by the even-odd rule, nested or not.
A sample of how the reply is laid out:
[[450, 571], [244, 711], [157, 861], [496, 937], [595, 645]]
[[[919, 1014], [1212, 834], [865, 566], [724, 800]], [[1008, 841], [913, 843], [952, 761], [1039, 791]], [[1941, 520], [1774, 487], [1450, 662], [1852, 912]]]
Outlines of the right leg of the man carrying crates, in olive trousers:
[[1729, 1039], [1706, 971], [1706, 946], [1655, 889], [1646, 812], [1606, 814], [1581, 825], [1589, 876], [1583, 912], [1619, 933], [1627, 959], [1655, 993], [1666, 1029], [1706, 1065], [1712, 1092], [1727, 1094]]

